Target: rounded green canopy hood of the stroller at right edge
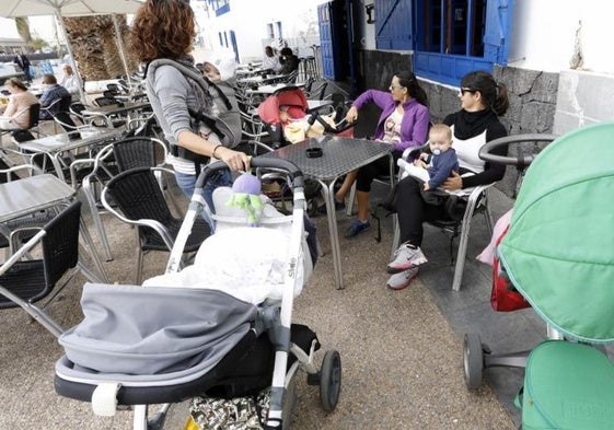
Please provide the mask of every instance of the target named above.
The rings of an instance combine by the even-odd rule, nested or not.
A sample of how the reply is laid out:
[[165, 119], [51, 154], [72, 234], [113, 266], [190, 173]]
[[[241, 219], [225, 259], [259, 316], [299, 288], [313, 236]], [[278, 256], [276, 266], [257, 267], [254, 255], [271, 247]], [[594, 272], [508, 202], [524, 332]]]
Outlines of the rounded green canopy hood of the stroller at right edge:
[[556, 139], [526, 172], [498, 247], [540, 316], [578, 340], [614, 340], [614, 123]]

